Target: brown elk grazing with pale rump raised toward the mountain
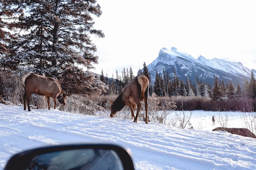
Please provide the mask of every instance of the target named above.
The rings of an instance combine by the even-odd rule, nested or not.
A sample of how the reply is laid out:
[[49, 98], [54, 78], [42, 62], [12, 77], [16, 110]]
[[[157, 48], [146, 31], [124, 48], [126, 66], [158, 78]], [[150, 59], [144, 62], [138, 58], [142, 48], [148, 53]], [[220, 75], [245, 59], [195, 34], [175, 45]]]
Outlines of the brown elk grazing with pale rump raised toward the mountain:
[[[147, 120], [147, 97], [148, 97], [148, 86], [149, 81], [146, 76], [139, 75], [134, 77], [128, 85], [124, 87], [122, 92], [119, 94], [118, 98], [113, 102], [110, 100], [110, 117], [112, 118], [117, 111], [123, 109], [126, 105], [129, 106], [131, 110], [132, 118], [134, 118], [134, 122], [137, 122], [137, 118], [139, 115], [139, 110], [141, 108], [141, 103], [143, 100], [145, 102], [145, 110], [146, 110], [146, 118], [145, 122], [148, 123]], [[137, 105], [137, 113], [136, 117], [134, 116], [134, 110]]]

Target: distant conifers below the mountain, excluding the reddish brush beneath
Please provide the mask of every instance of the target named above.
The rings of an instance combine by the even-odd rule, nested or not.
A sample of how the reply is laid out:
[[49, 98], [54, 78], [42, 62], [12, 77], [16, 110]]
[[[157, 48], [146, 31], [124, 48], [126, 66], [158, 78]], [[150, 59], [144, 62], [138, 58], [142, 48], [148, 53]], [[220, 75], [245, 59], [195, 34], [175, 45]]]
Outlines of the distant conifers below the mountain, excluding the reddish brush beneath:
[[[155, 93], [157, 96], [201, 96], [210, 98], [212, 101], [221, 101], [226, 99], [241, 99], [241, 98], [256, 98], [256, 78], [253, 71], [251, 71], [250, 82], [245, 81], [244, 85], [237, 87], [232, 81], [221, 81], [217, 76], [214, 81], [214, 85], [211, 86], [202, 80], [196, 78], [196, 84], [192, 84], [192, 81], [187, 79], [186, 82], [179, 80], [176, 76], [175, 70], [172, 75], [163, 70], [163, 73], [155, 74], [155, 82], [151, 82], [151, 77], [146, 67], [146, 63], [143, 64], [143, 71], [139, 71], [138, 74], [144, 74], [148, 77], [150, 82], [149, 94]], [[100, 79], [108, 86], [108, 90], [105, 94], [119, 94], [122, 88], [127, 85], [132, 78], [134, 78], [132, 68], [123, 68], [119, 76], [116, 71], [116, 77], [108, 78], [104, 76], [103, 69], [101, 71]]]

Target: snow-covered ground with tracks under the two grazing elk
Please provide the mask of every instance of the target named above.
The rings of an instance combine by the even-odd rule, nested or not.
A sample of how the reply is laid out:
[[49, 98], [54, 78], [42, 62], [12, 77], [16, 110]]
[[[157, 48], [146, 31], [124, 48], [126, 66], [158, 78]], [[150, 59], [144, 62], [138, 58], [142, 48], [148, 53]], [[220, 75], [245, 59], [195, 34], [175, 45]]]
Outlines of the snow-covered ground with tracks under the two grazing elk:
[[[118, 114], [118, 113], [117, 113]], [[192, 111], [195, 128], [178, 129], [131, 119], [24, 111], [0, 104], [0, 169], [14, 153], [50, 144], [111, 143], [129, 148], [136, 170], [255, 170], [256, 139], [212, 131], [211, 115]], [[244, 127], [239, 112], [228, 112], [229, 127]]]

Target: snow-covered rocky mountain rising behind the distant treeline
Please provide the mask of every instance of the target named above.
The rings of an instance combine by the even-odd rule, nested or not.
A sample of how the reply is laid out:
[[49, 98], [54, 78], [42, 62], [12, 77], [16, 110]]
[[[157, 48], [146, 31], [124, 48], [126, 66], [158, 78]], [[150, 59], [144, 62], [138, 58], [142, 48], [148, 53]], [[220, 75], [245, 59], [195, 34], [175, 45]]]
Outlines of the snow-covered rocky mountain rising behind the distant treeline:
[[[242, 86], [244, 78], [249, 82], [251, 78], [251, 70], [243, 66], [240, 62], [230, 62], [223, 59], [206, 59], [199, 56], [198, 59], [193, 58], [185, 52], [179, 51], [172, 47], [171, 50], [163, 48], [160, 50], [158, 57], [147, 66], [151, 75], [152, 82], [155, 82], [155, 74], [168, 72], [169, 76], [174, 76], [174, 69], [179, 80], [190, 79], [193, 84], [196, 83], [196, 77], [199, 81], [213, 85], [215, 77], [223, 80], [224, 83], [232, 81], [234, 85]], [[256, 74], [256, 70], [253, 70]]]

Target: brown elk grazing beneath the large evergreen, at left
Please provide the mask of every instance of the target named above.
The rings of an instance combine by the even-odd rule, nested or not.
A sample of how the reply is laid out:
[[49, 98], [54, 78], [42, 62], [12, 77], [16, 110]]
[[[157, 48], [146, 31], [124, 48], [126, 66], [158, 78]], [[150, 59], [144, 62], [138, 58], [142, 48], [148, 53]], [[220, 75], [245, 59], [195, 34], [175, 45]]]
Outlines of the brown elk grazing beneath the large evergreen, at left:
[[26, 110], [26, 101], [27, 101], [27, 110], [30, 111], [29, 107], [29, 99], [32, 93], [37, 95], [44, 95], [46, 96], [46, 101], [48, 104], [48, 109], [50, 110], [50, 97], [54, 100], [54, 109], [56, 109], [56, 99], [61, 104], [65, 104], [66, 97], [69, 94], [65, 94], [59, 82], [52, 78], [46, 76], [40, 76], [34, 73], [27, 73], [22, 77], [22, 84], [25, 88], [25, 93], [23, 95], [23, 105], [24, 110]]

